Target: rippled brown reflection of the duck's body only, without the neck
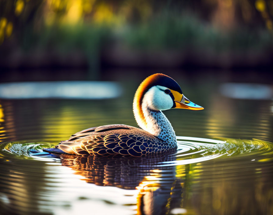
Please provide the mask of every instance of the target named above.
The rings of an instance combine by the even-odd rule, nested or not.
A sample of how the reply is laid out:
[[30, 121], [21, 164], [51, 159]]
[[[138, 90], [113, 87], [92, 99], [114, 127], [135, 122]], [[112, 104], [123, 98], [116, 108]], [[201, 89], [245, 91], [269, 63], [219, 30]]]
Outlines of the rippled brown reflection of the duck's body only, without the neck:
[[[135, 189], [147, 175], [156, 175], [161, 171], [173, 172], [173, 167], [164, 167], [163, 165], [154, 166], [160, 162], [176, 160], [176, 155], [149, 155], [145, 157], [121, 157], [109, 158], [99, 156], [74, 156], [61, 155], [60, 162], [62, 166], [68, 166], [85, 177], [88, 183], [94, 183], [100, 186], [116, 186], [123, 189]], [[175, 175], [174, 175], [175, 177]]]

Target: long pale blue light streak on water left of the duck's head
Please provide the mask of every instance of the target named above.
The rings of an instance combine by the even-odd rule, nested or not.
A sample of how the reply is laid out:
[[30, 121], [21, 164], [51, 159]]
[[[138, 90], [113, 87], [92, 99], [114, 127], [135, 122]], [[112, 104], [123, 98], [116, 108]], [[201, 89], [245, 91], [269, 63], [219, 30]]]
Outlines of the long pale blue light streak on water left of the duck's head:
[[115, 82], [57, 81], [12, 82], [0, 84], [0, 98], [109, 99], [119, 97], [121, 87]]

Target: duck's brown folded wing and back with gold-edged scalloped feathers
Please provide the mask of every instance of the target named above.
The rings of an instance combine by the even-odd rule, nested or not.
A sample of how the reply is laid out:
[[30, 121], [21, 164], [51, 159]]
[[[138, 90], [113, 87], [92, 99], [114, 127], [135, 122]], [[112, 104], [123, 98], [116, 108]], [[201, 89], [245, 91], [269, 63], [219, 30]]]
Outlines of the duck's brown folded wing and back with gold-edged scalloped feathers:
[[76, 155], [141, 156], [165, 149], [164, 144], [150, 133], [126, 125], [107, 125], [85, 129], [62, 141], [56, 148]]

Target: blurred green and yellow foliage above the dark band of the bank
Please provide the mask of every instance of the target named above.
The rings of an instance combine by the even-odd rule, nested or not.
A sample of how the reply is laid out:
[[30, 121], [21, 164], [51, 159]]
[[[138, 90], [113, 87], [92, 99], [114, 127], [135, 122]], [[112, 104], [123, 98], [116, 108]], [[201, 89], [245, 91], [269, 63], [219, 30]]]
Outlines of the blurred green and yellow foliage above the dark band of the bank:
[[[232, 18], [232, 14], [228, 13], [229, 7], [222, 11], [216, 1], [213, 3], [215, 6], [200, 1], [198, 8], [185, 1], [118, 2], [1, 2], [0, 45], [10, 40], [12, 45], [7, 46], [10, 52], [18, 47], [23, 52], [46, 52], [50, 49], [61, 57], [66, 53], [80, 52], [88, 62], [90, 71], [94, 72], [98, 71], [101, 51], [109, 43], [117, 41], [132, 52], [136, 49], [144, 52], [153, 49], [187, 53], [190, 50], [193, 55], [205, 51], [212, 53], [212, 57], [219, 53], [231, 56], [247, 52], [264, 56], [268, 50], [273, 50], [271, 16], [268, 15], [264, 24], [259, 15], [260, 12], [267, 13], [263, 1], [256, 2], [256, 5], [248, 2], [248, 7], [243, 7], [232, 0], [229, 5], [234, 10], [242, 11], [242, 14], [248, 11], [251, 15], [249, 19], [255, 21], [253, 25], [240, 14]], [[216, 12], [221, 19], [214, 17]], [[224, 25], [223, 17], [226, 14], [230, 18], [229, 27]], [[215, 24], [215, 21], [218, 23]], [[0, 53], [6, 54], [2, 47], [3, 44]], [[90, 73], [91, 76], [96, 74]]]

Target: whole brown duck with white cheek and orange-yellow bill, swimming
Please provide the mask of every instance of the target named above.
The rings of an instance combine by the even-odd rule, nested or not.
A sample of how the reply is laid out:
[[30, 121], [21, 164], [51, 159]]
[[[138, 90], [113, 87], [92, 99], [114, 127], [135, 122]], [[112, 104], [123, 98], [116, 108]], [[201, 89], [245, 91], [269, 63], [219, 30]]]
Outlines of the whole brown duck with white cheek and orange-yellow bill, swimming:
[[187, 99], [171, 77], [156, 73], [140, 83], [133, 99], [133, 114], [140, 128], [122, 124], [92, 127], [73, 134], [49, 153], [69, 155], [142, 156], [177, 149], [175, 131], [162, 111], [203, 110]]

